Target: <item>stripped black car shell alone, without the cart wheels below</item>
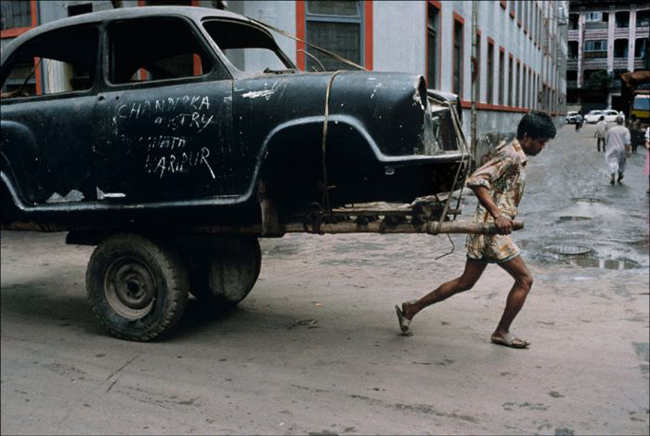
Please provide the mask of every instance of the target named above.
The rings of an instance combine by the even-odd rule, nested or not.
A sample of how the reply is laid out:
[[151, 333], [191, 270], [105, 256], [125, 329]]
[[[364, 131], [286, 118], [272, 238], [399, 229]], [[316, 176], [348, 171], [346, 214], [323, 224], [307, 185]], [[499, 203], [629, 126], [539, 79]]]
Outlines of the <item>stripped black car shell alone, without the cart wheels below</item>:
[[260, 181], [287, 220], [322, 199], [328, 84], [331, 206], [448, 190], [463, 158], [422, 77], [298, 73], [268, 31], [227, 12], [47, 24], [3, 50], [3, 83], [33, 58], [50, 73], [40, 95], [2, 98], [5, 220], [251, 223]]

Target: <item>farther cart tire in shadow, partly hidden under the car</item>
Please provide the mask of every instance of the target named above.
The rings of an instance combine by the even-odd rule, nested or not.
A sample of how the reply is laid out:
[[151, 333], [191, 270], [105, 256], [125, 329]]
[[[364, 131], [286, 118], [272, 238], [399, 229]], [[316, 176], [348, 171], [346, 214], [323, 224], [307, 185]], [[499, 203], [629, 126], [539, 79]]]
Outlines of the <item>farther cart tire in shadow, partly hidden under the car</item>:
[[214, 308], [239, 304], [255, 286], [262, 267], [262, 251], [256, 237], [211, 238], [189, 252], [190, 289]]

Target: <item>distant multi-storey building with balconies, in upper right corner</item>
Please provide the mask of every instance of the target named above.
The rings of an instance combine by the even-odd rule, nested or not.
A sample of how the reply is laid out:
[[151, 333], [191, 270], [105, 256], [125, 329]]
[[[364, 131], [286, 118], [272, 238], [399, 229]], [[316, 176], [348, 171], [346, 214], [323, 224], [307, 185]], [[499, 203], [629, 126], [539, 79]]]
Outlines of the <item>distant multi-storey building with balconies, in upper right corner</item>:
[[650, 6], [645, 2], [572, 0], [569, 8], [569, 104], [583, 111], [627, 110], [620, 75], [648, 70]]

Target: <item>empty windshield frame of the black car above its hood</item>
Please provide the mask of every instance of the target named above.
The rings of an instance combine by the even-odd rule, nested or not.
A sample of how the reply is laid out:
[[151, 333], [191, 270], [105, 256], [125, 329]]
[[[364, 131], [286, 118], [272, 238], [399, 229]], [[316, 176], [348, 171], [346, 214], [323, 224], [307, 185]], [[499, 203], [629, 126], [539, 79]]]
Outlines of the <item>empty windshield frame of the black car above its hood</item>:
[[[255, 31], [258, 31], [260, 34], [263, 34], [264, 36], [268, 37], [266, 39], [266, 42], [268, 44], [262, 44], [259, 46], [253, 46], [253, 47], [223, 47], [223, 44], [220, 44], [220, 41], [218, 41], [216, 38], [213, 37], [211, 34], [211, 31], [209, 29], [210, 24], [224, 24], [226, 26], [241, 26], [242, 28], [248, 27], [250, 29], [254, 29]], [[231, 74], [233, 75], [258, 75], [264, 73], [264, 71], [246, 71], [246, 70], [241, 70], [239, 69], [234, 63], [228, 58], [228, 56], [224, 53], [224, 50], [230, 49], [246, 49], [246, 48], [266, 48], [271, 50], [278, 58], [278, 60], [284, 65], [285, 70], [283, 71], [294, 71], [298, 72], [298, 67], [291, 62], [291, 59], [282, 51], [282, 49], [278, 46], [277, 42], [275, 41], [275, 38], [273, 38], [273, 35], [264, 27], [256, 25], [254, 23], [242, 21], [242, 20], [236, 20], [232, 18], [223, 18], [223, 17], [205, 17], [201, 20], [201, 29], [203, 32], [205, 32], [205, 36], [207, 39], [209, 39], [210, 43], [213, 44], [213, 46], [217, 49], [217, 54], [221, 61], [226, 65], [226, 68], [230, 71]], [[261, 40], [260, 40], [261, 41]], [[278, 72], [278, 70], [270, 70], [269, 72]]]

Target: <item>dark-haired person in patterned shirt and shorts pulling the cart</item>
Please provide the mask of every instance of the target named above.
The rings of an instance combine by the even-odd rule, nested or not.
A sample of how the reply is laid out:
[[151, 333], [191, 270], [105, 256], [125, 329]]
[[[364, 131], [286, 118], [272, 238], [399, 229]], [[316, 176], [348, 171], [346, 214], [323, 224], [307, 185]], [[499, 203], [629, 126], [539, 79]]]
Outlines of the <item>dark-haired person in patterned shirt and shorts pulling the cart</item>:
[[530, 342], [510, 333], [510, 326], [524, 305], [533, 284], [533, 276], [521, 258], [519, 247], [509, 234], [524, 193], [526, 156], [535, 156], [555, 137], [555, 126], [544, 112], [530, 112], [517, 127], [517, 137], [497, 147], [497, 155], [467, 179], [467, 186], [479, 200], [473, 220], [494, 223], [496, 235], [468, 235], [465, 270], [460, 277], [443, 283], [419, 300], [395, 306], [399, 327], [404, 335], [412, 334], [410, 324], [422, 309], [452, 295], [471, 289], [489, 263], [496, 263], [514, 279], [501, 320], [491, 336], [495, 344], [526, 348]]

